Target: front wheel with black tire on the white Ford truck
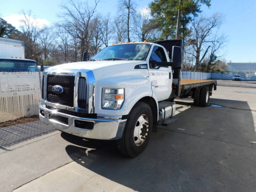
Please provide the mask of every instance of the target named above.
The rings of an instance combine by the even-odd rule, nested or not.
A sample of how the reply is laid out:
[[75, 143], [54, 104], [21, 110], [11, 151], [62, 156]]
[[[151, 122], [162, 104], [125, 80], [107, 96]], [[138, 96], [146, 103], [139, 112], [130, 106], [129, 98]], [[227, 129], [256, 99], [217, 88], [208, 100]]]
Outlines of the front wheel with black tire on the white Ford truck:
[[153, 115], [147, 103], [138, 102], [128, 115], [123, 136], [116, 141], [119, 152], [138, 156], [147, 146], [153, 126]]

